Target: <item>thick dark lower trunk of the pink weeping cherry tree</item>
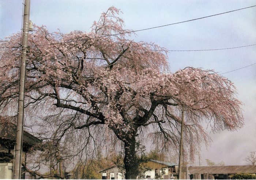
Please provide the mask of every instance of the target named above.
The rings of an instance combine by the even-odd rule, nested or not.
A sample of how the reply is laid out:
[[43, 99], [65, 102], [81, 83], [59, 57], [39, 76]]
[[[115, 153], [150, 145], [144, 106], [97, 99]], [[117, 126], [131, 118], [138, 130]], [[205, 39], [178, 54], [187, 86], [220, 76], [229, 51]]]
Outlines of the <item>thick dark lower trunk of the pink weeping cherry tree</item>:
[[125, 167], [125, 179], [136, 179], [139, 170], [138, 170], [138, 160], [136, 158], [135, 152], [136, 140], [135, 136], [127, 139], [124, 142], [125, 156], [124, 156], [124, 167]]

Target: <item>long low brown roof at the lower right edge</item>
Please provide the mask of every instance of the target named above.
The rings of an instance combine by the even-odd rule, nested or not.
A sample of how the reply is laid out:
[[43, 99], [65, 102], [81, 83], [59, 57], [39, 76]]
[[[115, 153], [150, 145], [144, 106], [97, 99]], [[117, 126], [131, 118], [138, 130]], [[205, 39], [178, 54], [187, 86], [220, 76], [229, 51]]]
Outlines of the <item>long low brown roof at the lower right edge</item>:
[[198, 166], [188, 167], [190, 174], [234, 174], [234, 173], [256, 173], [256, 165], [242, 166]]

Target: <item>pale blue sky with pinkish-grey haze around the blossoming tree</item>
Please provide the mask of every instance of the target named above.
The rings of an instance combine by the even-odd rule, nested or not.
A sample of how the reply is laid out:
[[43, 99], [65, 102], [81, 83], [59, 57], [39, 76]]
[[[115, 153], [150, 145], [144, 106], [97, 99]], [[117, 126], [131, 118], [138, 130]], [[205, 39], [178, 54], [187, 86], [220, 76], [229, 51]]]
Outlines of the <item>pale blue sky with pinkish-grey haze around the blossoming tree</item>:
[[[23, 0], [0, 0], [0, 39], [22, 28], [22, 3]], [[31, 0], [30, 20], [37, 26], [46, 26], [50, 32], [89, 32], [93, 21], [114, 6], [122, 11], [120, 17], [124, 19], [125, 29], [141, 30], [253, 5], [256, 0]], [[136, 34], [133, 40], [154, 42], [168, 50], [248, 46], [256, 44], [256, 7]], [[221, 161], [225, 165], [248, 164], [246, 156], [256, 151], [256, 46], [170, 51], [168, 57], [172, 72], [191, 66], [225, 73], [222, 75], [234, 83], [237, 98], [244, 103], [243, 128], [215, 134], [207, 130], [212, 142], [208, 149], [202, 145], [200, 164], [207, 165], [205, 159], [216, 164]], [[199, 165], [198, 158], [193, 165]]]

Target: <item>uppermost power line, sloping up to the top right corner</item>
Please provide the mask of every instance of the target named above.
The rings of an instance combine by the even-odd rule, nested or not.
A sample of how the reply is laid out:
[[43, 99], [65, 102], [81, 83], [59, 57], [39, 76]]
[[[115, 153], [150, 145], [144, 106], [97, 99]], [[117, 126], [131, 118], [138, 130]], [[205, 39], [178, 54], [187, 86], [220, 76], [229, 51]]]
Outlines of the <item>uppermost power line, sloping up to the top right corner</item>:
[[[250, 6], [250, 7], [241, 8], [241, 9], [236, 9], [236, 10], [233, 10], [233, 11], [222, 12], [222, 13], [218, 13], [218, 14], [214, 14], [214, 15], [210, 15], [210, 16], [199, 17], [199, 18], [196, 18], [196, 19], [181, 21], [181, 22], [177, 22], [177, 23], [165, 24], [165, 25], [162, 25], [162, 26], [155, 26], [155, 27], [151, 27], [151, 28], [145, 28], [145, 29], [141, 29], [141, 30], [135, 30], [135, 31], [129, 31], [129, 32], [121, 32], [121, 33], [117, 33], [117, 34], [110, 34], [110, 35], [98, 36], [98, 37], [88, 38], [88, 39], [71, 40], [71, 41], [67, 41], [67, 42], [59, 42], [59, 43], [50, 43], [50, 44], [33, 45], [33, 46], [30, 46], [30, 47], [36, 47], [36, 46], [39, 47], [39, 46], [49, 46], [49, 45], [54, 45], [54, 44], [72, 43], [72, 42], [79, 42], [79, 41], [83, 41], [83, 40], [98, 39], [98, 38], [105, 38], [105, 37], [109, 37], [109, 36], [122, 35], [122, 34], [127, 34], [127, 33], [132, 33], [132, 32], [146, 31], [146, 30], [151, 30], [151, 29], [155, 29], [155, 28], [161, 28], [161, 27], [165, 27], [165, 26], [171, 26], [171, 25], [174, 25], [174, 24], [180, 24], [180, 23], [186, 23], [186, 22], [189, 22], [189, 21], [204, 19], [204, 18], [207, 18], [207, 17], [222, 15], [222, 14], [230, 13], [230, 12], [234, 12], [234, 11], [240, 11], [240, 10], [242, 10], [242, 9], [247, 9], [247, 8], [252, 8], [252, 7], [256, 7], [256, 5], [253, 5], [253, 6]], [[10, 48], [10, 47], [0, 47], [0, 48]]]

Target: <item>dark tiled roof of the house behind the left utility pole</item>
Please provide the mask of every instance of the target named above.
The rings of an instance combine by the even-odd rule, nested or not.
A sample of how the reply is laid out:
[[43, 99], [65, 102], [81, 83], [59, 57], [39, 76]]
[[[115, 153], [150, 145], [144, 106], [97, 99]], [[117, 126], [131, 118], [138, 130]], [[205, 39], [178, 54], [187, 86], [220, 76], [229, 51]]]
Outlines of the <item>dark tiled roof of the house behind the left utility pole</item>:
[[[0, 121], [0, 138], [10, 141], [16, 141], [16, 125], [11, 122]], [[35, 145], [42, 142], [39, 138], [23, 131], [23, 143], [27, 145]]]

